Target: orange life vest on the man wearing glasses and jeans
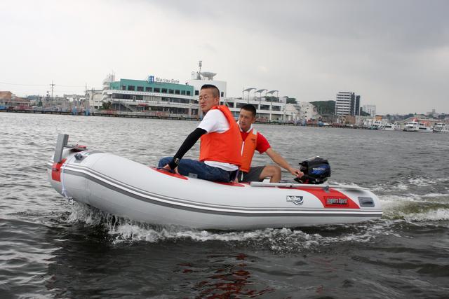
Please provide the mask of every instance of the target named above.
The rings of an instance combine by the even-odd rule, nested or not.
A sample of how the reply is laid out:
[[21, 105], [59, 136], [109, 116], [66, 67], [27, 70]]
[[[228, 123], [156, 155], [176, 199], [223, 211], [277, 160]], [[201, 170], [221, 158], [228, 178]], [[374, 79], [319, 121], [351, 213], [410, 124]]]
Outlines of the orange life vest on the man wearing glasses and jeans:
[[203, 134], [199, 148], [199, 160], [225, 162], [240, 167], [242, 141], [239, 126], [227, 106], [213, 106], [212, 109], [218, 109], [225, 114], [229, 130], [222, 133]]

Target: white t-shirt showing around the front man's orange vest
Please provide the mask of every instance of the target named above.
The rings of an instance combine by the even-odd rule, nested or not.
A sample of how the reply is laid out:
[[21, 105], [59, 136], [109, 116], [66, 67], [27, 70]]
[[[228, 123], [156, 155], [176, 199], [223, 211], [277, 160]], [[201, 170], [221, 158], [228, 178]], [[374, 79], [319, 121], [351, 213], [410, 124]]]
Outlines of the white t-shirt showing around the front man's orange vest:
[[[222, 111], [213, 109], [209, 110], [206, 113], [203, 120], [201, 120], [201, 123], [199, 123], [198, 127], [208, 133], [223, 133], [229, 130], [229, 123], [227, 122], [226, 116], [222, 113]], [[228, 172], [233, 172], [234, 170], [239, 169], [237, 165], [225, 162], [204, 161], [204, 164], [212, 167], [218, 167]]]

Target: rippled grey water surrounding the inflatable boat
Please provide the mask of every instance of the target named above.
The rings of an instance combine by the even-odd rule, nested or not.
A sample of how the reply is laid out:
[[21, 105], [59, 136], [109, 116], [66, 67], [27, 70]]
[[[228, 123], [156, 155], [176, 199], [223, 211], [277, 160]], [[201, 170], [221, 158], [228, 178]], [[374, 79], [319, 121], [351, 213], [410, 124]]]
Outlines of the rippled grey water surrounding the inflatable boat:
[[196, 124], [0, 113], [0, 298], [449, 297], [445, 134], [257, 125], [292, 164], [326, 157], [331, 183], [380, 197], [382, 219], [356, 225], [158, 227], [69, 205], [47, 181], [58, 132], [156, 165]]

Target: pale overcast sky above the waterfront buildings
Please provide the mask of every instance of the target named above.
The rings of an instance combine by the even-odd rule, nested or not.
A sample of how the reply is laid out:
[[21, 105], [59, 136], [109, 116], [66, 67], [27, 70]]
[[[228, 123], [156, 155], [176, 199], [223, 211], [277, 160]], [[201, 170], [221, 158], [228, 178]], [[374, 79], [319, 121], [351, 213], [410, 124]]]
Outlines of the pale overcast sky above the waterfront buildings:
[[449, 1], [0, 2], [0, 90], [83, 94], [149, 74], [217, 73], [227, 95], [361, 95], [377, 113], [449, 113]]

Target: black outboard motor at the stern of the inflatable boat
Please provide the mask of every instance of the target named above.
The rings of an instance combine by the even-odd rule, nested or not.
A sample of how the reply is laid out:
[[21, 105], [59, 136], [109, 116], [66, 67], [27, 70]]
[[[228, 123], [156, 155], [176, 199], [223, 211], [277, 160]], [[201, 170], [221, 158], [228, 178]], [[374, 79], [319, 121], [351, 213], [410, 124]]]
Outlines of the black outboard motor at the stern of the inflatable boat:
[[296, 178], [298, 183], [320, 184], [330, 177], [330, 165], [328, 160], [315, 157], [300, 162], [300, 170], [304, 173], [301, 178]]

